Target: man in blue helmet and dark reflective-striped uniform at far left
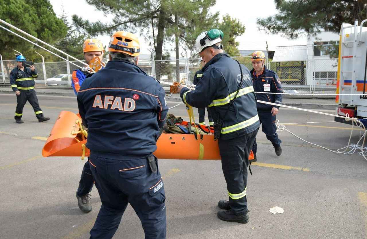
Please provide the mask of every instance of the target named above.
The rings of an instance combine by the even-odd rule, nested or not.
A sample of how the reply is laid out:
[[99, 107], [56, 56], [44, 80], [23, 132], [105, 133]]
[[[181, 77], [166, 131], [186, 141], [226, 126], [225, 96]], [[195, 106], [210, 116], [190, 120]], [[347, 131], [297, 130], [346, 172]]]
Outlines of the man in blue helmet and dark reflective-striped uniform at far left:
[[10, 87], [17, 95], [17, 108], [15, 109], [15, 122], [18, 124], [24, 123], [22, 121], [23, 108], [25, 103], [28, 102], [33, 107], [34, 114], [38, 119], [38, 122], [48, 121], [50, 118], [44, 117], [43, 112], [38, 103], [36, 91], [34, 91], [34, 85], [36, 84], [34, 78], [38, 77], [37, 71], [34, 66], [25, 67], [25, 57], [22, 55], [17, 56], [17, 67], [10, 71]]

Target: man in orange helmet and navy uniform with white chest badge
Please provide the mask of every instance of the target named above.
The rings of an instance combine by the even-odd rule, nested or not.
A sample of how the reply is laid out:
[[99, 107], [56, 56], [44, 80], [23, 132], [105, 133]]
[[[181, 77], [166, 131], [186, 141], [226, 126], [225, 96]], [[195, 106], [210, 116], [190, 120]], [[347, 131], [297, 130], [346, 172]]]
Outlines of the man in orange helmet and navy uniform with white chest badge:
[[[254, 85], [256, 98], [258, 100], [281, 104], [280, 94], [266, 94], [270, 93], [283, 93], [279, 77], [274, 71], [268, 70], [265, 67], [265, 54], [262, 51], [255, 51], [251, 56], [251, 62], [254, 69], [252, 69], [251, 76]], [[260, 124], [262, 124], [262, 132], [265, 133], [266, 138], [272, 142], [275, 154], [281, 155], [281, 140], [276, 133], [276, 115], [279, 113], [279, 106], [272, 106], [271, 104], [257, 103], [257, 111], [260, 118]], [[252, 146], [252, 152], [254, 153], [254, 160], [257, 161], [256, 152], [257, 144], [256, 139]]]

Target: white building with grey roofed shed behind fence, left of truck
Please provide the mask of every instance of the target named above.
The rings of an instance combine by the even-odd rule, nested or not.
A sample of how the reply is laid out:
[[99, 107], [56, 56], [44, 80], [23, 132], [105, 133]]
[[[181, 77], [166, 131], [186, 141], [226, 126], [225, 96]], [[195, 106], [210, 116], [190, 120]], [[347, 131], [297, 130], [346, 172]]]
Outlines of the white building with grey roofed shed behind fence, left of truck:
[[328, 51], [338, 43], [337, 33], [309, 35], [306, 45], [277, 47], [270, 68], [283, 84], [336, 85], [338, 59], [331, 59]]

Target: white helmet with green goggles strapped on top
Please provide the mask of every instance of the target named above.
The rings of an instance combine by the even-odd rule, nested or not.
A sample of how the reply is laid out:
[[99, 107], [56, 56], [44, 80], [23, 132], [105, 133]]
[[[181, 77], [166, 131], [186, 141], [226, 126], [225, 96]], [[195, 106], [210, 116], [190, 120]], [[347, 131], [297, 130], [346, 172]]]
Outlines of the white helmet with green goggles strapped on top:
[[207, 32], [202, 32], [196, 38], [195, 48], [196, 53], [203, 51], [208, 47], [214, 47], [216, 49], [223, 49], [222, 45], [215, 46], [214, 44], [223, 40], [223, 32], [218, 29], [211, 29]]

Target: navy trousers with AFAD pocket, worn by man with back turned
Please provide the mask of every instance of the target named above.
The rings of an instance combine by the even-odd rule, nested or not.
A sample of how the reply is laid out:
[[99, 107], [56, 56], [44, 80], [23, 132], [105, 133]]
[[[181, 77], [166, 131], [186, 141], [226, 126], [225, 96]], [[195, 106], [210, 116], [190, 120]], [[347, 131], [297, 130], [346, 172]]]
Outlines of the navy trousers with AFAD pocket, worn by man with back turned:
[[[157, 158], [155, 163], [158, 167]], [[90, 168], [102, 201], [91, 239], [112, 238], [128, 203], [141, 220], [145, 239], [166, 238], [163, 181], [159, 170], [150, 169], [148, 158], [116, 160], [91, 152]]]

